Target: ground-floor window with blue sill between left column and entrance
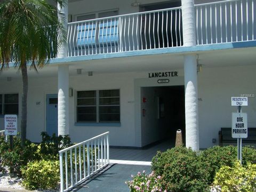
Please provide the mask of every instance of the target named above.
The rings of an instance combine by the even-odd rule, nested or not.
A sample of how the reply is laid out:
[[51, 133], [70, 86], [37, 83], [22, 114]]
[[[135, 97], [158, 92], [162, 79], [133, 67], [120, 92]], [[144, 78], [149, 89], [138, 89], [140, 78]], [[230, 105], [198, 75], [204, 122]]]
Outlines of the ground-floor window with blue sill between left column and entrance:
[[119, 89], [77, 91], [77, 122], [120, 122]]

